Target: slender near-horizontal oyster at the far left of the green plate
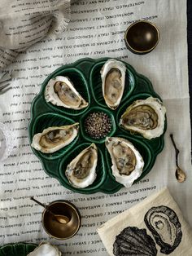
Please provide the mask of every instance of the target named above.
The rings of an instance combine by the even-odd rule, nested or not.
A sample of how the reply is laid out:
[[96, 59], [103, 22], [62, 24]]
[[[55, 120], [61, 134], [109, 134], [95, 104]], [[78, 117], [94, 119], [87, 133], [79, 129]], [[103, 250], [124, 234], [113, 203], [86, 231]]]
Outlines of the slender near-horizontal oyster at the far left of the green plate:
[[31, 146], [44, 153], [52, 153], [67, 146], [76, 138], [79, 123], [71, 126], [53, 126], [33, 136]]

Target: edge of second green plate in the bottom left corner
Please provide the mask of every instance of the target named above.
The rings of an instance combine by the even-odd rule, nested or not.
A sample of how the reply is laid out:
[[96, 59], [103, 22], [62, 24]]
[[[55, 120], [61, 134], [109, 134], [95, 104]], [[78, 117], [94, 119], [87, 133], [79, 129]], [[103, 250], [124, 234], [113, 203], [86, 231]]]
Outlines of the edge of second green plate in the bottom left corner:
[[28, 243], [7, 244], [0, 247], [0, 256], [27, 256], [37, 245]]

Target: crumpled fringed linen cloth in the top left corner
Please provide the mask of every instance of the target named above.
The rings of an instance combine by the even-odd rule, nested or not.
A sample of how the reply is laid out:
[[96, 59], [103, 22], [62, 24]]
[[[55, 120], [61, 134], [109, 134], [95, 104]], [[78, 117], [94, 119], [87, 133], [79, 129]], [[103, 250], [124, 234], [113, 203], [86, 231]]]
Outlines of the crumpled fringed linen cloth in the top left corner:
[[0, 70], [46, 35], [62, 33], [70, 20], [70, 0], [2, 0]]

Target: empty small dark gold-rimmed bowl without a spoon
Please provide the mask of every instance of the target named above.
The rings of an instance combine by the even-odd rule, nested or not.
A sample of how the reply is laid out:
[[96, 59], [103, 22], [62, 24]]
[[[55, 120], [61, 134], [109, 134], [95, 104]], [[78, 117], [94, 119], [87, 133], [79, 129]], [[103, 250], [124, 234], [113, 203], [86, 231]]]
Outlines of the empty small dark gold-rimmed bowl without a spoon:
[[159, 29], [149, 21], [137, 21], [125, 31], [124, 41], [129, 51], [137, 55], [145, 55], [157, 46]]

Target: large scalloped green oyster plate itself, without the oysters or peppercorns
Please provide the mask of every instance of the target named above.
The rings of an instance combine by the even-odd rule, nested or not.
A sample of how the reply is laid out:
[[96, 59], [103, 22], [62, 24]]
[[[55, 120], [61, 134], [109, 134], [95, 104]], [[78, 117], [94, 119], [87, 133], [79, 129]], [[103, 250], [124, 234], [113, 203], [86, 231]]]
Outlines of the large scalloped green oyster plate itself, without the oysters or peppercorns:
[[[74, 192], [91, 194], [95, 192], [115, 193], [123, 188], [123, 185], [116, 182], [116, 179], [111, 174], [111, 157], [105, 148], [105, 139], [92, 139], [86, 132], [84, 127], [85, 117], [89, 113], [102, 111], [107, 113], [112, 120], [112, 129], [107, 136], [116, 136], [129, 139], [130, 142], [142, 154], [145, 162], [142, 175], [135, 182], [139, 181], [149, 173], [154, 166], [155, 158], [164, 148], [164, 134], [159, 138], [145, 139], [142, 135], [133, 135], [129, 131], [123, 130], [119, 126], [119, 120], [124, 110], [137, 99], [146, 99], [150, 96], [159, 98], [155, 93], [151, 82], [141, 74], [137, 73], [134, 68], [126, 65], [126, 82], [124, 95], [121, 99], [120, 106], [116, 111], [111, 110], [105, 104], [102, 93], [102, 81], [100, 70], [108, 58], [98, 60], [81, 59], [73, 64], [66, 64], [55, 72], [42, 83], [40, 93], [33, 99], [31, 106], [31, 119], [28, 125], [29, 141], [32, 143], [33, 135], [42, 132], [50, 126], [63, 126], [75, 122], [80, 123], [79, 135], [67, 147], [60, 149], [58, 152], [45, 154], [38, 152], [32, 148], [35, 155], [41, 160], [42, 166], [50, 177], [58, 179], [65, 187]], [[44, 98], [44, 92], [47, 82], [50, 78], [56, 76], [67, 76], [74, 83], [76, 90], [89, 102], [89, 106], [81, 110], [73, 110], [62, 108], [53, 104], [47, 103]], [[166, 121], [164, 132], [166, 130]], [[98, 147], [98, 165], [97, 178], [87, 188], [74, 188], [65, 175], [66, 166], [90, 143], [96, 143]]]

